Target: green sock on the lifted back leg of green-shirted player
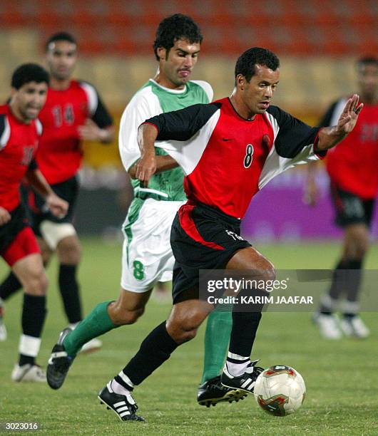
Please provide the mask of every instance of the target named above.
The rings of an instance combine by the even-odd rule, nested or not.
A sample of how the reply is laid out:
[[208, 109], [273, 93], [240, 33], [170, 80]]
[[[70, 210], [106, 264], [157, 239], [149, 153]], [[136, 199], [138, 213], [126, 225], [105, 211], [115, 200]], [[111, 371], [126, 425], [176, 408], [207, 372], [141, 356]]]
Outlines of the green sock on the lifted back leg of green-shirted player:
[[107, 331], [116, 328], [108, 315], [108, 305], [111, 301], [104, 301], [98, 304], [89, 315], [70, 333], [63, 341], [66, 352], [71, 357], [75, 357], [84, 343], [91, 341], [97, 336], [103, 335]]

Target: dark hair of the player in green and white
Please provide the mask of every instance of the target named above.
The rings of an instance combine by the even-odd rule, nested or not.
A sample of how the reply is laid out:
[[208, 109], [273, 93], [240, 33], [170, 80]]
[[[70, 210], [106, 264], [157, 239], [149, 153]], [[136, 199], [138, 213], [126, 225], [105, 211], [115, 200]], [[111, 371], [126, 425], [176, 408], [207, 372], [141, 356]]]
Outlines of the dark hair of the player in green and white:
[[190, 43], [202, 43], [203, 36], [200, 28], [190, 16], [174, 14], [160, 21], [153, 42], [156, 59], [159, 60], [159, 47], [165, 48], [168, 56], [168, 52], [178, 39], [188, 39]]

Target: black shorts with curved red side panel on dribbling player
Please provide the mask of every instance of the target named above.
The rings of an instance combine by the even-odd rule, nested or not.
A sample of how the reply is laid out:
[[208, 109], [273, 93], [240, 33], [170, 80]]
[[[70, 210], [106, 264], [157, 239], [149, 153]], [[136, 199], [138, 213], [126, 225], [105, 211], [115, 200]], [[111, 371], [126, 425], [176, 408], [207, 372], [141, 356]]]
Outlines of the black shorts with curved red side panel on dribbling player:
[[240, 237], [240, 219], [205, 204], [184, 204], [172, 224], [175, 256], [173, 303], [198, 299], [200, 269], [224, 269], [236, 251], [251, 244]]

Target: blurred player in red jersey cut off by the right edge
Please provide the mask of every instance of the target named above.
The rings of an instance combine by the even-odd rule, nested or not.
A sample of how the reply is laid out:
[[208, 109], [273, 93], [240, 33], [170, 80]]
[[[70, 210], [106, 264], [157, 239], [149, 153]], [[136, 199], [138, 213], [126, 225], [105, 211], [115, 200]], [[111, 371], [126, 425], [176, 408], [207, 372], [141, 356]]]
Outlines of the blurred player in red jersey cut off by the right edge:
[[[359, 95], [364, 110], [352, 133], [342, 144], [330, 150], [326, 166], [336, 212], [335, 222], [344, 230], [341, 259], [337, 262], [330, 290], [314, 321], [322, 336], [366, 338], [369, 328], [358, 314], [358, 294], [362, 263], [369, 249], [369, 226], [378, 192], [378, 59], [361, 58], [357, 62]], [[334, 102], [320, 125], [332, 125], [339, 117], [347, 98]], [[312, 167], [312, 165], [310, 165]], [[314, 168], [309, 168], [307, 199], [316, 202]], [[345, 301], [339, 305], [341, 297]], [[334, 311], [342, 310], [339, 321]]]

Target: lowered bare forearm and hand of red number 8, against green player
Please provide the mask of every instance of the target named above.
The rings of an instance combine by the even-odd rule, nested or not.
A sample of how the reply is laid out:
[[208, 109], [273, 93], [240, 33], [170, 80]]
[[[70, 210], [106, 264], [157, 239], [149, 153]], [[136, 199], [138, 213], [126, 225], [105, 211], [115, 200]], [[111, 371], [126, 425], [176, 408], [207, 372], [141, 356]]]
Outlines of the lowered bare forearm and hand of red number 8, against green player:
[[142, 124], [138, 128], [138, 145], [141, 150], [141, 159], [136, 162], [136, 178], [143, 182], [145, 187], [156, 172], [155, 140], [158, 129], [155, 125]]

